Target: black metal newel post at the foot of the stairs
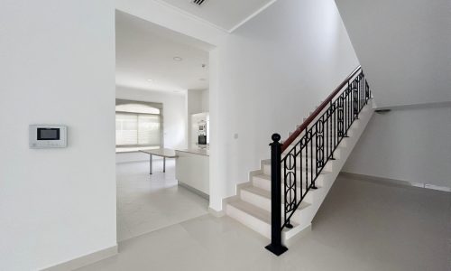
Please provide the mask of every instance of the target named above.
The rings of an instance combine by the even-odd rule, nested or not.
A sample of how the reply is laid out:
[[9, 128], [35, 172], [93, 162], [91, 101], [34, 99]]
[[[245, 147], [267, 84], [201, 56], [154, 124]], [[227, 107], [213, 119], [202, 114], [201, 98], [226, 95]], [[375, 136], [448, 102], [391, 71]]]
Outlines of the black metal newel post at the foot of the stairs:
[[272, 135], [271, 145], [271, 244], [265, 248], [277, 256], [287, 251], [281, 243], [281, 135]]

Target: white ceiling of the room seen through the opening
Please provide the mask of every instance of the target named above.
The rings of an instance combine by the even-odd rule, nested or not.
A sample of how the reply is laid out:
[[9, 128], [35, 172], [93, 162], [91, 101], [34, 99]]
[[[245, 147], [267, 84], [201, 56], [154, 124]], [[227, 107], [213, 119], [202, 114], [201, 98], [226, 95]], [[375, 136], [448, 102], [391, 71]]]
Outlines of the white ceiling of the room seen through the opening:
[[115, 24], [117, 85], [171, 92], [208, 89], [208, 66], [202, 68], [208, 64], [207, 43], [119, 11]]

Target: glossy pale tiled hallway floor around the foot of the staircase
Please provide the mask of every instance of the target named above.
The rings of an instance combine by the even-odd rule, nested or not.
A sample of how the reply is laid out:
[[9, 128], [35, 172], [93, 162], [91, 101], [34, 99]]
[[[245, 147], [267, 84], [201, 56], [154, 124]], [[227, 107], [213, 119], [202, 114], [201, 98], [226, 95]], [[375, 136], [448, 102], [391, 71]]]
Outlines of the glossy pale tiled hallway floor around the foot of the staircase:
[[313, 229], [281, 257], [230, 218], [204, 215], [119, 244], [91, 270], [450, 269], [451, 194], [339, 178]]

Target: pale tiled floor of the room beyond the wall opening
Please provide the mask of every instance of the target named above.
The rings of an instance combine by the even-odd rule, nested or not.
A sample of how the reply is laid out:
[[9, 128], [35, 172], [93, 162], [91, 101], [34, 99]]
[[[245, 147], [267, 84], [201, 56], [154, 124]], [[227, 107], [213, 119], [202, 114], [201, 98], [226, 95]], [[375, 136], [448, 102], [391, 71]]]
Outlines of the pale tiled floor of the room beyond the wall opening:
[[207, 214], [208, 201], [177, 185], [174, 160], [116, 165], [119, 241]]

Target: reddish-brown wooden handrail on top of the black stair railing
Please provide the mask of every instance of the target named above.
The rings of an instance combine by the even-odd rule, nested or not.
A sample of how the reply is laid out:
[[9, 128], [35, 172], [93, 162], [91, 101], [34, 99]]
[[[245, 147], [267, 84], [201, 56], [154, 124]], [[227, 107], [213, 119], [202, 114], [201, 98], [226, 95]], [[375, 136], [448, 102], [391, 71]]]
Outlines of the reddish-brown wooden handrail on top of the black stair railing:
[[330, 101], [332, 101], [332, 99], [336, 97], [336, 94], [338, 94], [338, 92], [340, 92], [340, 90], [343, 89], [343, 87], [345, 87], [347, 82], [350, 81], [355, 76], [355, 74], [357, 74], [357, 72], [359, 72], [359, 70], [361, 69], [362, 67], [360, 65], [357, 68], [355, 68], [355, 70], [346, 77], [346, 79], [321, 103], [321, 105], [315, 111], [313, 111], [313, 113], [310, 116], [308, 116], [308, 118], [293, 132], [293, 134], [291, 134], [287, 138], [287, 140], [283, 142], [283, 145], [281, 146], [282, 153], [291, 145], [291, 143], [293, 143], [293, 141], [296, 138], [298, 138], [298, 136], [302, 133], [302, 131], [304, 131], [308, 127], [308, 125], [316, 117], [318, 117], [319, 113], [321, 113], [321, 111], [323, 111], [323, 109], [327, 107]]

